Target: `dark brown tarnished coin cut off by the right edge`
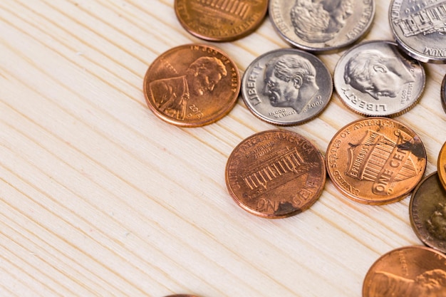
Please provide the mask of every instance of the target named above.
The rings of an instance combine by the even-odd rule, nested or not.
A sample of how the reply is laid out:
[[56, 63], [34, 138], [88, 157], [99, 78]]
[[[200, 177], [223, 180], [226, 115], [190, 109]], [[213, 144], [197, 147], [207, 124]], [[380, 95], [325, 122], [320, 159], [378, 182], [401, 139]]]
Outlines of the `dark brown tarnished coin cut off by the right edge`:
[[446, 253], [446, 190], [431, 173], [418, 184], [409, 205], [410, 223], [427, 246]]

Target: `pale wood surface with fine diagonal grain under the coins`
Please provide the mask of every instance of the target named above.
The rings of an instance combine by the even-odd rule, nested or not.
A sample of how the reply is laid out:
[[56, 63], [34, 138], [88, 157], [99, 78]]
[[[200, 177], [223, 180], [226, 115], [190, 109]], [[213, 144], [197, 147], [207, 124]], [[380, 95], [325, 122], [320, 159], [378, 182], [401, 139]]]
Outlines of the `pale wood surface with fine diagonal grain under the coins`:
[[[378, 0], [365, 40], [393, 40]], [[379, 256], [420, 245], [410, 198], [368, 206], [331, 181], [308, 211], [268, 220], [240, 209], [224, 166], [245, 137], [276, 128], [242, 98], [225, 118], [184, 129], [145, 104], [160, 53], [207, 43], [184, 31], [173, 0], [0, 1], [0, 296], [359, 297]], [[239, 41], [212, 43], [241, 73], [287, 45], [268, 18]], [[320, 55], [333, 74], [340, 53]], [[396, 118], [425, 144], [426, 174], [446, 140], [444, 65], [425, 64], [420, 103]], [[284, 129], [325, 155], [362, 118], [333, 95]]]

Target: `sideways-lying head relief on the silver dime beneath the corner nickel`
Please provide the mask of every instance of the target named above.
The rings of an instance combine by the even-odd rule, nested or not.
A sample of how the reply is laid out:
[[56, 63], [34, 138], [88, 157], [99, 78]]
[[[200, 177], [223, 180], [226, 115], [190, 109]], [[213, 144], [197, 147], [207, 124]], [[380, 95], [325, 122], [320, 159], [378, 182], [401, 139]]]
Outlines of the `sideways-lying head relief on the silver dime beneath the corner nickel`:
[[344, 80], [356, 90], [380, 97], [395, 98], [406, 83], [415, 81], [401, 58], [377, 50], [365, 50], [350, 58]]

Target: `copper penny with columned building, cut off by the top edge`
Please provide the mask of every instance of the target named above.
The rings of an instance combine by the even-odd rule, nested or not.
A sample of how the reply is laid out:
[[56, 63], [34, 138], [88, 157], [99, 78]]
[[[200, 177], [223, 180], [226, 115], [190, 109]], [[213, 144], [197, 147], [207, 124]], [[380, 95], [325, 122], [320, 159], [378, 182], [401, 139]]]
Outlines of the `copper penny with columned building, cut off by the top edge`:
[[247, 36], [264, 20], [267, 0], [175, 0], [183, 28], [208, 41], [234, 41]]

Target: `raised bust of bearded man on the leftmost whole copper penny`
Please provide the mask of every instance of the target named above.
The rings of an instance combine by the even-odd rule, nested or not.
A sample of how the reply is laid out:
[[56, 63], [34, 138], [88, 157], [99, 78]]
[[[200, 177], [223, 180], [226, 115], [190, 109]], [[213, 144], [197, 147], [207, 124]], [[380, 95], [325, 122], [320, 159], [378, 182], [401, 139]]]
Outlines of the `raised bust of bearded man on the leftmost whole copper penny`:
[[160, 111], [184, 120], [187, 101], [211, 93], [226, 75], [227, 70], [219, 58], [200, 57], [190, 64], [184, 75], [153, 80], [149, 85], [150, 94]]

